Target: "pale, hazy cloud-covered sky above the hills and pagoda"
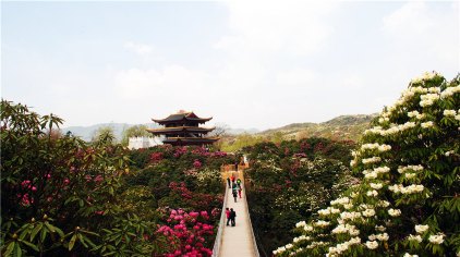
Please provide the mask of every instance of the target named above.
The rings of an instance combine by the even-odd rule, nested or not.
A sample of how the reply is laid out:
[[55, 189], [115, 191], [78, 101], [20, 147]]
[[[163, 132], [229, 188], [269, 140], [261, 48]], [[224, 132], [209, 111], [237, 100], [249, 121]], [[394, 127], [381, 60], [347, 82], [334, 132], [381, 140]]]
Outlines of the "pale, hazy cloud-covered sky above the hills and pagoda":
[[378, 112], [460, 71], [458, 2], [1, 3], [1, 95], [65, 126], [180, 109], [269, 128]]

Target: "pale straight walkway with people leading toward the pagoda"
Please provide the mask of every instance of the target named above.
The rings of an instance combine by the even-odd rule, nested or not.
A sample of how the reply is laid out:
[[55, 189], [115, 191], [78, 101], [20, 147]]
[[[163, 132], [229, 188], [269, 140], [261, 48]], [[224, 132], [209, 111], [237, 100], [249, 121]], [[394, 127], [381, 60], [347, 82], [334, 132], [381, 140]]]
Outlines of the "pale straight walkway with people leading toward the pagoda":
[[[243, 180], [243, 178], [241, 178]], [[250, 217], [247, 215], [247, 203], [245, 191], [241, 197], [237, 198], [234, 203], [231, 191], [227, 194], [227, 206], [233, 208], [237, 212], [235, 227], [225, 225], [222, 231], [222, 241], [219, 252], [219, 257], [254, 257], [258, 256], [257, 250], [254, 248], [255, 242], [253, 242], [252, 227], [250, 223]]]

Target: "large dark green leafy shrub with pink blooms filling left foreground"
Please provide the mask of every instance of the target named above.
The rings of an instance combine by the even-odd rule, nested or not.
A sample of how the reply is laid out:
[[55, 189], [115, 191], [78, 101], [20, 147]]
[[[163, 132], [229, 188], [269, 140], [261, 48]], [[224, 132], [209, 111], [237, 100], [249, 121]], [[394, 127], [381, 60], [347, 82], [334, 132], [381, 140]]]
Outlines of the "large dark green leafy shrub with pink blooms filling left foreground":
[[[134, 242], [102, 237], [106, 230], [133, 222], [118, 197], [128, 172], [124, 149], [108, 135], [87, 145], [52, 133], [61, 123], [53, 114], [41, 117], [26, 106], [1, 101], [0, 253], [85, 256], [101, 245], [137, 253], [147, 244], [147, 230], [134, 230], [140, 238]], [[155, 228], [145, 220], [136, 225], [150, 233]]]

